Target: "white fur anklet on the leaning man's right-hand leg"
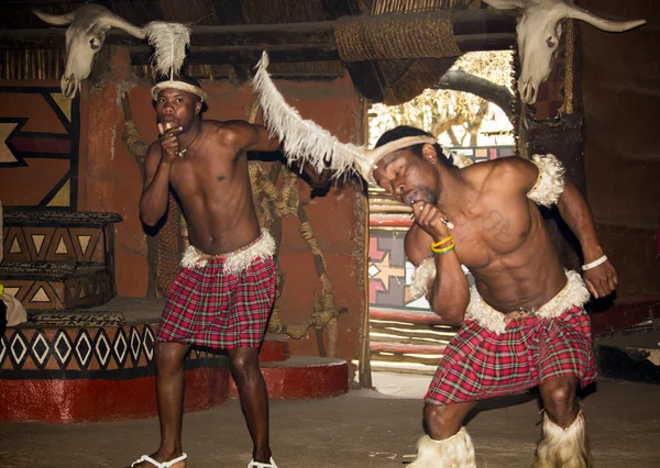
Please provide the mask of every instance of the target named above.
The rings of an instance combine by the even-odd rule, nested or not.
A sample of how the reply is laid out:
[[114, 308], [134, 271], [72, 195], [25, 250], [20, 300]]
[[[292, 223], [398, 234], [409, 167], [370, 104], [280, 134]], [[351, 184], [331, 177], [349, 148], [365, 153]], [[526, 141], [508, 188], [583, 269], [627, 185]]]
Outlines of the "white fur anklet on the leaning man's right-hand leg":
[[568, 427], [554, 424], [548, 414], [543, 414], [543, 437], [537, 448], [534, 468], [588, 468], [592, 466], [586, 424], [582, 411]]

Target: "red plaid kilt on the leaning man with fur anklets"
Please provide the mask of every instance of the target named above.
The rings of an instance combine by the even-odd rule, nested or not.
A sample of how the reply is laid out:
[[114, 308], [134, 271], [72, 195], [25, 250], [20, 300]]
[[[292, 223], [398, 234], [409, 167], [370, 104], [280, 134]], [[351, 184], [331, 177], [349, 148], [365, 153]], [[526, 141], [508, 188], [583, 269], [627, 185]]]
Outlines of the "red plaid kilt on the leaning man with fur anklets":
[[554, 319], [513, 320], [502, 334], [468, 320], [450, 341], [425, 397], [451, 404], [522, 393], [556, 377], [594, 382], [591, 320], [582, 307]]

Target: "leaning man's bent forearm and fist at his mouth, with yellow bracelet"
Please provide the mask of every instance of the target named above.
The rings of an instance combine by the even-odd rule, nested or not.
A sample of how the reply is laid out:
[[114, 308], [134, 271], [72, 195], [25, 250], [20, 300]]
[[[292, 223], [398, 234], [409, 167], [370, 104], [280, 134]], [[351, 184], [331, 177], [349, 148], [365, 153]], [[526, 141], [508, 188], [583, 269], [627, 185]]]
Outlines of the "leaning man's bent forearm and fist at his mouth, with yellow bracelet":
[[[406, 235], [405, 244], [406, 256], [415, 265], [419, 265], [428, 257], [432, 242], [451, 235], [447, 225], [441, 221], [444, 215], [429, 203], [426, 203], [424, 209], [421, 205], [421, 203], [416, 203], [413, 207], [417, 224]], [[460, 325], [463, 323], [470, 302], [468, 278], [465, 278], [455, 249], [447, 254], [435, 255], [435, 257], [437, 272], [432, 285], [428, 287], [427, 299], [431, 310], [444, 323]]]

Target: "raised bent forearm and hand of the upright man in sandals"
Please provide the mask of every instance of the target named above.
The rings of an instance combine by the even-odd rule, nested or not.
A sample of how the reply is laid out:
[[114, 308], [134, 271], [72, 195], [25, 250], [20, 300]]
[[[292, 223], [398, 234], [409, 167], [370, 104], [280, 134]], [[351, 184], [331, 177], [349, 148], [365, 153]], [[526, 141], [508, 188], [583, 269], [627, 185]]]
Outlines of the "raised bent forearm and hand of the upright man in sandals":
[[[163, 130], [158, 124], [158, 130]], [[146, 152], [144, 188], [140, 197], [140, 218], [147, 226], [155, 226], [167, 211], [169, 199], [169, 169], [176, 160], [179, 127], [167, 130]]]

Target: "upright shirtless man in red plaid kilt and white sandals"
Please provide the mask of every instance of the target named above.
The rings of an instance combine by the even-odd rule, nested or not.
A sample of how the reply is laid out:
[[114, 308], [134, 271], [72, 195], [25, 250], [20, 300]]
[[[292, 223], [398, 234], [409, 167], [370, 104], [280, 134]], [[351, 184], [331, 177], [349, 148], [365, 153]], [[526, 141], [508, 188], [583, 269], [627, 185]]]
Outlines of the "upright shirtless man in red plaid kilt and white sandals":
[[261, 125], [202, 121], [206, 93], [194, 79], [158, 83], [152, 93], [161, 136], [146, 154], [140, 213], [146, 225], [156, 225], [172, 187], [191, 245], [154, 344], [161, 446], [131, 466], [185, 466], [184, 357], [190, 345], [200, 345], [228, 349], [254, 444], [249, 468], [274, 468], [258, 346], [275, 298], [275, 242], [258, 225], [245, 152], [276, 151], [279, 143]]

